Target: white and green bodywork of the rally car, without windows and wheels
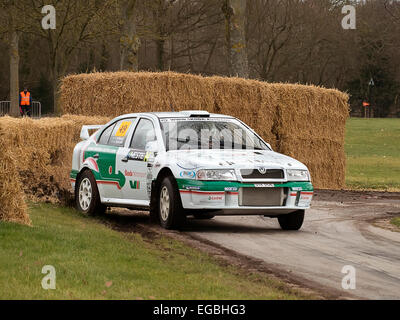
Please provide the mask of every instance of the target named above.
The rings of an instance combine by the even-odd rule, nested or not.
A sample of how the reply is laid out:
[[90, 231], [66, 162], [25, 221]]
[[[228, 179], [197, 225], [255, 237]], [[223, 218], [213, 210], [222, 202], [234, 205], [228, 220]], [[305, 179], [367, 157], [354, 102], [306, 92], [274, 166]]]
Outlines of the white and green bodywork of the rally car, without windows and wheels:
[[[308, 170], [301, 162], [288, 156], [269, 150], [178, 150], [166, 151], [161, 131], [161, 118], [189, 117], [187, 113], [143, 113], [130, 114], [113, 119], [102, 126], [88, 140], [77, 144], [74, 149], [71, 184], [75, 188], [79, 174], [89, 169], [95, 175], [101, 202], [108, 206], [147, 208], [150, 203], [152, 183], [161, 170], [168, 169], [176, 179], [182, 205], [188, 210], [216, 211], [227, 215], [271, 215], [287, 214], [310, 207], [313, 187], [310, 181], [288, 181], [287, 170]], [[233, 119], [228, 116], [210, 115], [221, 119]], [[136, 118], [126, 134], [123, 147], [109, 147], [98, 144], [102, 131], [109, 125], [121, 120]], [[129, 148], [140, 119], [152, 121], [157, 137], [157, 152], [138, 151], [128, 160], [127, 155], [135, 152]], [[199, 118], [201, 119], [201, 118]], [[97, 159], [96, 156], [99, 155]], [[115, 159], [114, 159], [115, 158]], [[143, 158], [143, 159], [142, 159]], [[108, 166], [108, 170], [104, 167]], [[279, 179], [246, 179], [241, 170], [282, 170]], [[237, 176], [235, 181], [199, 181], [197, 172], [201, 169], [230, 169]], [[102, 171], [102, 172], [101, 172]], [[108, 173], [107, 173], [108, 172]], [[107, 176], [109, 175], [109, 176]], [[284, 190], [284, 203], [279, 206], [241, 205], [243, 189], [260, 188], [268, 194], [269, 189]], [[263, 192], [264, 192], [263, 191]]]

